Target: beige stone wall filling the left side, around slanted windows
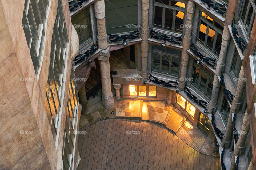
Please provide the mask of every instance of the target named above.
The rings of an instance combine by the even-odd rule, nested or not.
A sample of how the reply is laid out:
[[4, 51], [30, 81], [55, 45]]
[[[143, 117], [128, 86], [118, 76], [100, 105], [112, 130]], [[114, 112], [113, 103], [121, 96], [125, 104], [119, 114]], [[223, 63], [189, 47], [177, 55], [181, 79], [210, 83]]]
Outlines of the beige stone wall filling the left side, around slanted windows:
[[[70, 43], [57, 148], [44, 101], [58, 0], [52, 0], [50, 4], [43, 62], [38, 80], [23, 28], [20, 27], [24, 0], [0, 2], [0, 167], [3, 169], [61, 169], [63, 166], [61, 154], [68, 83], [72, 58], [78, 52], [78, 37], [72, 29], [68, 2], [62, 2]], [[27, 81], [21, 81], [21, 78]], [[20, 131], [33, 134], [20, 134]]]

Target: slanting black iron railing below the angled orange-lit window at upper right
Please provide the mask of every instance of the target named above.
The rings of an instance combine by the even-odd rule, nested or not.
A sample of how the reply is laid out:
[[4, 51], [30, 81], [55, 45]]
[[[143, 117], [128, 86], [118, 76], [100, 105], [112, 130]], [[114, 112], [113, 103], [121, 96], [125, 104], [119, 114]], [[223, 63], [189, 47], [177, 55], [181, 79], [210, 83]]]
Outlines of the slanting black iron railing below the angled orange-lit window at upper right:
[[212, 59], [210, 57], [205, 57], [202, 53], [200, 53], [197, 49], [197, 47], [191, 43], [190, 45], [190, 50], [199, 58], [199, 60], [197, 60], [197, 64], [200, 65], [201, 62], [205, 62], [207, 65], [213, 67], [213, 69], [216, 69], [216, 62], [217, 60]]

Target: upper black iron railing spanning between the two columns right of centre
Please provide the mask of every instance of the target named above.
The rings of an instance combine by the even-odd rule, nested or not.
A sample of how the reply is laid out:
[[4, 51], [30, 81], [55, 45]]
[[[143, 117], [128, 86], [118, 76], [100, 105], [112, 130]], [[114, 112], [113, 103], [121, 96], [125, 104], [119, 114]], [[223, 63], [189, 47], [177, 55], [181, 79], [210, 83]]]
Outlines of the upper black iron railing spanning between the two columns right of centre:
[[164, 44], [167, 42], [167, 43], [173, 43], [173, 44], [182, 45], [182, 38], [181, 37], [182, 37], [182, 35], [181, 36], [169, 37], [169, 36], [166, 36], [166, 34], [162, 34], [162, 33], [156, 32], [153, 29], [151, 29], [151, 31], [150, 31], [150, 38], [155, 38], [157, 40], [160, 40]]

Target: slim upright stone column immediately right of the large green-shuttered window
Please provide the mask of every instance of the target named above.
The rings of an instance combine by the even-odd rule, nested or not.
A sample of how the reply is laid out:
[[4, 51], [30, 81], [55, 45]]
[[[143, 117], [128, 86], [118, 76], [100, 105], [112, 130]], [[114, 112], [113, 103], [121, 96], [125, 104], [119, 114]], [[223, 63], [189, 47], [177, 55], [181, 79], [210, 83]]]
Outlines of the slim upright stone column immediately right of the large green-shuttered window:
[[141, 26], [141, 76], [144, 79], [148, 78], [147, 56], [149, 51], [149, 0], [141, 0], [142, 8], [142, 26]]

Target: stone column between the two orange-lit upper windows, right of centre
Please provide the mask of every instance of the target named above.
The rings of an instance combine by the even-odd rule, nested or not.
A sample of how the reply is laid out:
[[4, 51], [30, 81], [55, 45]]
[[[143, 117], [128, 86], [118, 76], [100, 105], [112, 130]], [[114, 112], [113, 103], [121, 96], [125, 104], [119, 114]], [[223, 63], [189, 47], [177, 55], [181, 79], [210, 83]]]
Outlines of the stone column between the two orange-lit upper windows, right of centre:
[[189, 65], [189, 53], [187, 50], [190, 49], [191, 35], [193, 27], [193, 19], [195, 12], [195, 4], [192, 1], [187, 1], [187, 21], [185, 35], [183, 38], [183, 49], [181, 53], [181, 75], [179, 78], [179, 90], [184, 90], [186, 77], [187, 77], [187, 66]]

